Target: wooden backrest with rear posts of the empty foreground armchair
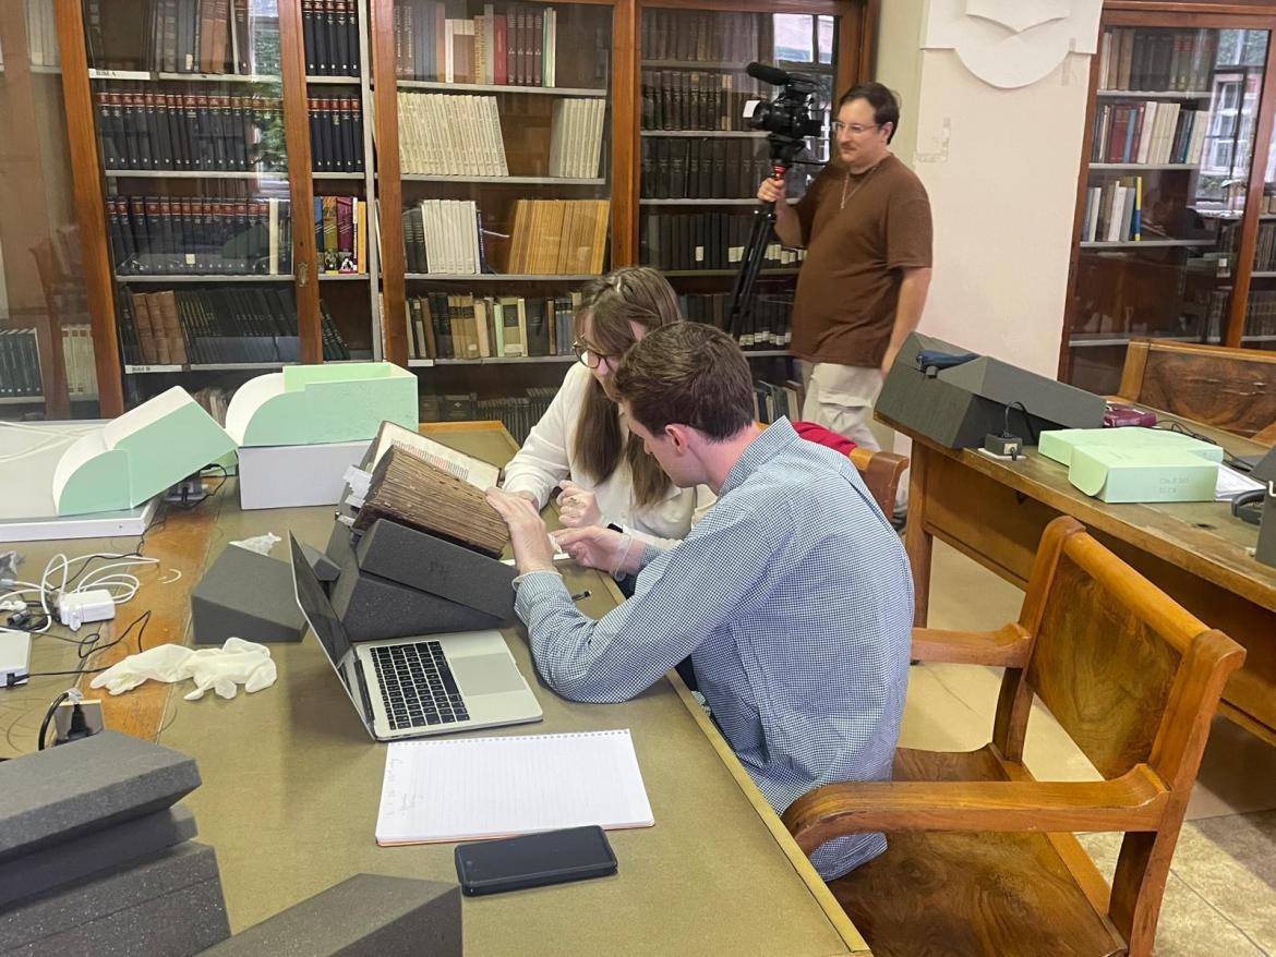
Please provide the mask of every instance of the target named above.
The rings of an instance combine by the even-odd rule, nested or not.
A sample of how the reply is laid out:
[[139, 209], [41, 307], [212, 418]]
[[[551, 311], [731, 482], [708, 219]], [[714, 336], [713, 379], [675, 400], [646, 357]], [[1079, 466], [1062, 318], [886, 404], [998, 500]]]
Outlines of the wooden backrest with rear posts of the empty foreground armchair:
[[1105, 778], [1146, 764], [1169, 789], [1156, 829], [1125, 835], [1113, 880], [1111, 920], [1137, 952], [1155, 933], [1210, 721], [1244, 649], [1068, 517], [1041, 536], [1020, 625], [1032, 646], [1002, 685], [1002, 753], [1022, 759], [1037, 697]]

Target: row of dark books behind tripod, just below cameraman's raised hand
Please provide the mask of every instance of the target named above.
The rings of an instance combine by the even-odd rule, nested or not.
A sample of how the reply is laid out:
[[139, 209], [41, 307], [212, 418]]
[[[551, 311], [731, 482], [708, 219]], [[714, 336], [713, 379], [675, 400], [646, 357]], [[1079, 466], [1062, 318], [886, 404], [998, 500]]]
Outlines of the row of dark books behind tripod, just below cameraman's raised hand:
[[[649, 213], [643, 217], [642, 262], [657, 269], [730, 269], [744, 259], [754, 213]], [[805, 250], [772, 237], [763, 265], [796, 265]]]

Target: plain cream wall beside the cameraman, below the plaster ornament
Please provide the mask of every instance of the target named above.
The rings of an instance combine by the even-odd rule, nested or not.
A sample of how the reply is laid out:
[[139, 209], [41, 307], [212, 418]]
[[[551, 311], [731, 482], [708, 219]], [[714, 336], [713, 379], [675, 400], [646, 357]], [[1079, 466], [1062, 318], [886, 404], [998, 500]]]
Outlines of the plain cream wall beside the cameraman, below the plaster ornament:
[[924, 0], [882, 8], [878, 79], [903, 100], [893, 148], [925, 184], [935, 223], [921, 330], [1054, 378], [1090, 57], [1069, 54], [1044, 79], [999, 89], [951, 50], [920, 50]]

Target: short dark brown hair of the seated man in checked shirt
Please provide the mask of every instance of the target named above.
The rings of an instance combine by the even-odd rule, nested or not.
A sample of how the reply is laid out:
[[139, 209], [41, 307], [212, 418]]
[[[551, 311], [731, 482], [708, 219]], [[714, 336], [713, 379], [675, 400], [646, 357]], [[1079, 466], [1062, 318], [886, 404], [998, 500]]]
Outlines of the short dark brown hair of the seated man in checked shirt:
[[656, 435], [666, 425], [688, 425], [721, 441], [753, 422], [749, 362], [730, 336], [703, 323], [644, 336], [611, 374], [611, 388]]

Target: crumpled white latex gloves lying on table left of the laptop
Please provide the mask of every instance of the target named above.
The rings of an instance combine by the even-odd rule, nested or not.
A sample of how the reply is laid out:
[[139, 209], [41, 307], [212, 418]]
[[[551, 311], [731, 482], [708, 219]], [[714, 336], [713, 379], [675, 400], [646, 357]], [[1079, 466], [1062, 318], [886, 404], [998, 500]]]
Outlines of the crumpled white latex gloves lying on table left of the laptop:
[[234, 698], [242, 684], [249, 693], [274, 684], [278, 671], [271, 649], [242, 638], [227, 638], [221, 648], [193, 651], [180, 644], [160, 644], [130, 655], [97, 675], [92, 688], [106, 688], [111, 694], [133, 690], [144, 681], [195, 680], [195, 690], [186, 701], [197, 701], [212, 688], [222, 698]]

